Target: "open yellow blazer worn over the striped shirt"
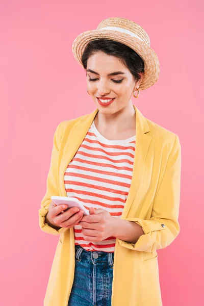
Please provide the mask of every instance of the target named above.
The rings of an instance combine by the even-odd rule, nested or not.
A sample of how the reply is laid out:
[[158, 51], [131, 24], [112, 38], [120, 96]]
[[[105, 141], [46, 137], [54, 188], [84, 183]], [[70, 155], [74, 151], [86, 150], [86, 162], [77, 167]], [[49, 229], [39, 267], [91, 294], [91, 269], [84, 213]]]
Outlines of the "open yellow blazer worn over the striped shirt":
[[[133, 177], [121, 218], [144, 231], [135, 244], [116, 238], [112, 306], [161, 306], [157, 249], [168, 246], [180, 232], [181, 180], [179, 137], [136, 111]], [[67, 196], [64, 172], [77, 152], [98, 109], [62, 121], [54, 135], [46, 193], [39, 209], [42, 231], [59, 235], [44, 297], [44, 306], [67, 306], [74, 277], [73, 228], [48, 226], [45, 215], [52, 195]], [[79, 305], [80, 306], [80, 305]]]

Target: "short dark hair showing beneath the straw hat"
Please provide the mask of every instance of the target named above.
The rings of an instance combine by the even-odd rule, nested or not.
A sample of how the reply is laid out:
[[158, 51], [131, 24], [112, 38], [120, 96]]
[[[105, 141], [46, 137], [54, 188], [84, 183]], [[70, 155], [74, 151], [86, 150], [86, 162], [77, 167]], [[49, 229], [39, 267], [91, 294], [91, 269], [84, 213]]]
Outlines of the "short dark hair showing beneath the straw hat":
[[110, 39], [96, 39], [87, 44], [82, 55], [84, 69], [87, 69], [88, 58], [98, 51], [117, 57], [130, 70], [136, 81], [141, 79], [140, 73], [144, 73], [143, 59], [129, 46]]

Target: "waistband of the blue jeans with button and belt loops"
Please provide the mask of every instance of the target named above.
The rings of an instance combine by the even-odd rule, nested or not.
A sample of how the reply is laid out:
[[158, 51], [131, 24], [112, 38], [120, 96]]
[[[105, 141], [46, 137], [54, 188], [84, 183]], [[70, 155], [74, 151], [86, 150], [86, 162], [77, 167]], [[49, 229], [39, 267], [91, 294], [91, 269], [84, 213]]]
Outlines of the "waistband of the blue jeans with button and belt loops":
[[90, 259], [93, 263], [97, 263], [99, 261], [108, 261], [108, 264], [111, 267], [113, 266], [114, 252], [87, 251], [81, 245], [75, 245], [75, 258], [77, 258], [77, 260], [81, 260], [82, 253], [86, 258]]

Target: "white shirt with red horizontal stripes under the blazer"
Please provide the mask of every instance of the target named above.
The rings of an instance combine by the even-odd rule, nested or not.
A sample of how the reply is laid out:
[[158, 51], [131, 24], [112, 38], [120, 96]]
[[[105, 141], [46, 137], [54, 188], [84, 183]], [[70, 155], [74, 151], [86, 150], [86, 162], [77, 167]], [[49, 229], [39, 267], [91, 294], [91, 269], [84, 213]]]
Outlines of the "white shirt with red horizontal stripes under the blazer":
[[[135, 137], [109, 140], [101, 135], [94, 120], [64, 173], [67, 196], [89, 209], [101, 208], [120, 218], [129, 193], [135, 155]], [[114, 252], [115, 237], [87, 241], [82, 226], [74, 225], [75, 245], [88, 251]]]

